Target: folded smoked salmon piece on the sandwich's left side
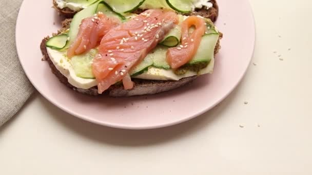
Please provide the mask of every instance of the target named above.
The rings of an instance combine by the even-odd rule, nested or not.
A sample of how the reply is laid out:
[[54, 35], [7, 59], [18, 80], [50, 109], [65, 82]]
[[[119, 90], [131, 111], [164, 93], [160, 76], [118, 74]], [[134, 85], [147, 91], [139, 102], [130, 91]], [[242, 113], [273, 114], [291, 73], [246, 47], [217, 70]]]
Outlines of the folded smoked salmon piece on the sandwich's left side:
[[77, 37], [67, 51], [67, 57], [71, 58], [95, 48], [110, 29], [120, 24], [118, 18], [107, 17], [101, 12], [83, 19]]

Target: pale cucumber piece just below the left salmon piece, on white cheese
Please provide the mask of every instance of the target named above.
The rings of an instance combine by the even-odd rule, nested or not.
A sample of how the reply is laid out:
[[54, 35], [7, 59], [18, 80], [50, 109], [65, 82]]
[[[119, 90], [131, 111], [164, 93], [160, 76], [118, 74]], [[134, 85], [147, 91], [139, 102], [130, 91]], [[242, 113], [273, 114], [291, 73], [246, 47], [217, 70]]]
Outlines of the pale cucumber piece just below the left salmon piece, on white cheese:
[[88, 53], [76, 55], [71, 58], [71, 64], [77, 77], [94, 78], [91, 66], [96, 54], [97, 50], [91, 49]]

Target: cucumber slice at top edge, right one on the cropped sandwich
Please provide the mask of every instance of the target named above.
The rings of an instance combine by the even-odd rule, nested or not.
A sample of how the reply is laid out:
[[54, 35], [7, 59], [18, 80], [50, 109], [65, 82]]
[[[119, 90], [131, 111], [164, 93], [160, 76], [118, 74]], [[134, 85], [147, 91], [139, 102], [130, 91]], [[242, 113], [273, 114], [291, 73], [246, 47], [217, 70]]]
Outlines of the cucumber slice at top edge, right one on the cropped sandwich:
[[189, 13], [192, 11], [192, 1], [191, 0], [166, 0], [167, 4], [180, 13]]

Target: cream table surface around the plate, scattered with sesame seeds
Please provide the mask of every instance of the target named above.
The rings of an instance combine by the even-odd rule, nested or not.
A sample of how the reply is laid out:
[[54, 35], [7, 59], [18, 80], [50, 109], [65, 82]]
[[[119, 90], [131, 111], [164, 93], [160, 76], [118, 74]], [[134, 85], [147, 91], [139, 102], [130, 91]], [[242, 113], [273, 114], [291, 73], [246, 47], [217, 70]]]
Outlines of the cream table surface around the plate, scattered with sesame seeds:
[[251, 5], [257, 65], [218, 107], [167, 128], [122, 130], [35, 93], [0, 128], [0, 174], [312, 174], [312, 1]]

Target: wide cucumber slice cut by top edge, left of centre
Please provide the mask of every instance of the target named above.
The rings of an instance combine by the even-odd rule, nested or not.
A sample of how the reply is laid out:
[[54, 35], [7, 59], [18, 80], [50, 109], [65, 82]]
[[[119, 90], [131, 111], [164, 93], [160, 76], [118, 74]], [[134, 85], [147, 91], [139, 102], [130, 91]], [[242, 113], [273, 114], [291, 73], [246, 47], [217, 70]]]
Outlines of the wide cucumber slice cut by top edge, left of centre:
[[117, 13], [129, 13], [138, 9], [145, 0], [106, 0], [105, 2]]

